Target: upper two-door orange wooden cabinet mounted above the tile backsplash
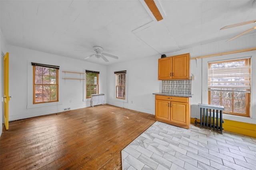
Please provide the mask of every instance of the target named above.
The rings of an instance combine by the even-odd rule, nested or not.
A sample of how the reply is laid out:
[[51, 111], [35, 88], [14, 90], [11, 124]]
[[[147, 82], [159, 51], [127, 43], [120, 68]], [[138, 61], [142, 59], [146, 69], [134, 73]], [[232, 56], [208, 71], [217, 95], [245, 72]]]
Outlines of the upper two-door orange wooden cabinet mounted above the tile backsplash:
[[189, 80], [190, 53], [158, 59], [158, 80]]

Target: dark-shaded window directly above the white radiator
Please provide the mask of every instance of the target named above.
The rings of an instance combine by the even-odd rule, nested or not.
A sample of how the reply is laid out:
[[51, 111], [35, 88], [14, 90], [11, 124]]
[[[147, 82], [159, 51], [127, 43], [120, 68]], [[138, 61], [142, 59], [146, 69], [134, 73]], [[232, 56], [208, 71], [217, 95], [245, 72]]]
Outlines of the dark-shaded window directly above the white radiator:
[[86, 98], [91, 98], [91, 94], [98, 94], [98, 82], [99, 74], [98, 71], [85, 70], [86, 72]]

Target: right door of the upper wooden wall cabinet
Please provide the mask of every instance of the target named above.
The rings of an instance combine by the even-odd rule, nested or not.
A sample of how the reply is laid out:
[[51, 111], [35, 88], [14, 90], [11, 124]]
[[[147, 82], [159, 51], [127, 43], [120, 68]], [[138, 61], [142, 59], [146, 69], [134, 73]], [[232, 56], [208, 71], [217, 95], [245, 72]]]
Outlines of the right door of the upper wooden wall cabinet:
[[190, 79], [190, 54], [172, 57], [172, 79]]

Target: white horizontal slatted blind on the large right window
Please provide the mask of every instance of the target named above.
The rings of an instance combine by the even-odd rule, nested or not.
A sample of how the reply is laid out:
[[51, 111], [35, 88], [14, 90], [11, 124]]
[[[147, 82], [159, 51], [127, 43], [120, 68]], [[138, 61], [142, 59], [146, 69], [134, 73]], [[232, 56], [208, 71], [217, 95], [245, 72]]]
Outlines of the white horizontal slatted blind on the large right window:
[[251, 58], [208, 63], [208, 89], [250, 92]]

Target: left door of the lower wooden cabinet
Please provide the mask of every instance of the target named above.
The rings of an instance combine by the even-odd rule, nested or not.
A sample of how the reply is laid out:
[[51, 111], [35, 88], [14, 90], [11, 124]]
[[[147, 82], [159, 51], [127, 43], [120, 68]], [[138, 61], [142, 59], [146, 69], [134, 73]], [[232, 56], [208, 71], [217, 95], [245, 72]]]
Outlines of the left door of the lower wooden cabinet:
[[170, 101], [156, 99], [156, 118], [170, 121]]

